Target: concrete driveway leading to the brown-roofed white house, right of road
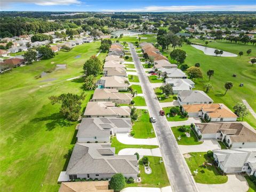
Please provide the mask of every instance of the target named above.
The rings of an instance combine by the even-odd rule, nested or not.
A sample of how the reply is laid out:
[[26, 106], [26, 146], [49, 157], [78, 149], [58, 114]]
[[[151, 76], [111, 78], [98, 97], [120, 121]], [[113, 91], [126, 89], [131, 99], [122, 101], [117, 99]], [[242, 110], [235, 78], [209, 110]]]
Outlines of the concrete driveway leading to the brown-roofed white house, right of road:
[[182, 154], [190, 152], [206, 152], [208, 150], [220, 149], [220, 145], [216, 139], [205, 139], [200, 145], [179, 145]]

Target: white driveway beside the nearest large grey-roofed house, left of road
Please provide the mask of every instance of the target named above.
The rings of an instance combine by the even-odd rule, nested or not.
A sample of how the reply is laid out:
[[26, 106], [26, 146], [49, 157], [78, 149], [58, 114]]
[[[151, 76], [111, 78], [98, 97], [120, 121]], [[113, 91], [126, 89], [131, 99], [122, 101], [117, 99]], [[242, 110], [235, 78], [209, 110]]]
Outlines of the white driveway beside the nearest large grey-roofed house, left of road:
[[156, 157], [162, 157], [160, 149], [140, 149], [140, 148], [125, 148], [118, 152], [118, 155], [134, 155], [135, 153], [138, 153], [140, 155], [140, 158], [142, 156], [156, 156]]

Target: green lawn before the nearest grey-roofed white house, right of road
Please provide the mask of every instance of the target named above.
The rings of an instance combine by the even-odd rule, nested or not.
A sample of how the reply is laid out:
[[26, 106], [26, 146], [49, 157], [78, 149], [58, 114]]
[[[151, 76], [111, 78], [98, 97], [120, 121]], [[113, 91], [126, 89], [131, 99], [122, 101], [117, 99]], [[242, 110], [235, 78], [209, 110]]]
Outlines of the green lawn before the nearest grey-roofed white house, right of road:
[[[194, 171], [198, 171], [197, 175], [194, 175], [194, 179], [197, 183], [204, 184], [221, 184], [228, 181], [227, 176], [222, 176], [219, 174], [217, 168], [213, 165], [213, 160], [207, 157], [206, 153], [189, 153], [190, 158], [186, 158], [186, 162], [191, 173], [194, 174]], [[212, 163], [212, 166], [204, 167], [203, 163], [207, 161]]]

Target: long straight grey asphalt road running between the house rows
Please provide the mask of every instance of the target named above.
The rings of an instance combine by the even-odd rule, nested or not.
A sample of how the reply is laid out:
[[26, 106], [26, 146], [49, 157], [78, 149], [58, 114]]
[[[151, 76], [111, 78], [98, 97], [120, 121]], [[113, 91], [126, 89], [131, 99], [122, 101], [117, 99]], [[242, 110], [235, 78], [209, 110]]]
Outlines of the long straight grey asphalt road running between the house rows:
[[133, 49], [133, 44], [129, 43], [131, 49], [134, 65], [137, 69], [137, 73], [140, 79], [142, 91], [149, 109], [150, 116], [156, 117], [156, 123], [154, 123], [154, 129], [159, 141], [165, 169], [173, 191], [180, 192], [193, 192], [198, 191], [196, 183], [191, 177], [191, 173], [185, 162], [184, 157], [179, 151], [178, 143], [167, 123], [165, 116], [159, 115], [161, 107], [156, 98], [153, 88], [146, 76], [139, 57], [136, 51]]

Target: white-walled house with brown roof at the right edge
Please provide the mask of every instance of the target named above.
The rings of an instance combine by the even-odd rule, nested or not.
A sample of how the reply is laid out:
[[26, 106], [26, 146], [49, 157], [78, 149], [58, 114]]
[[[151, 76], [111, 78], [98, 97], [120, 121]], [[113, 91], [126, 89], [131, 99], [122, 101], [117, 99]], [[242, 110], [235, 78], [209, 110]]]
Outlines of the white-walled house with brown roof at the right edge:
[[229, 148], [256, 148], [256, 130], [246, 122], [195, 123], [203, 139], [219, 139]]

